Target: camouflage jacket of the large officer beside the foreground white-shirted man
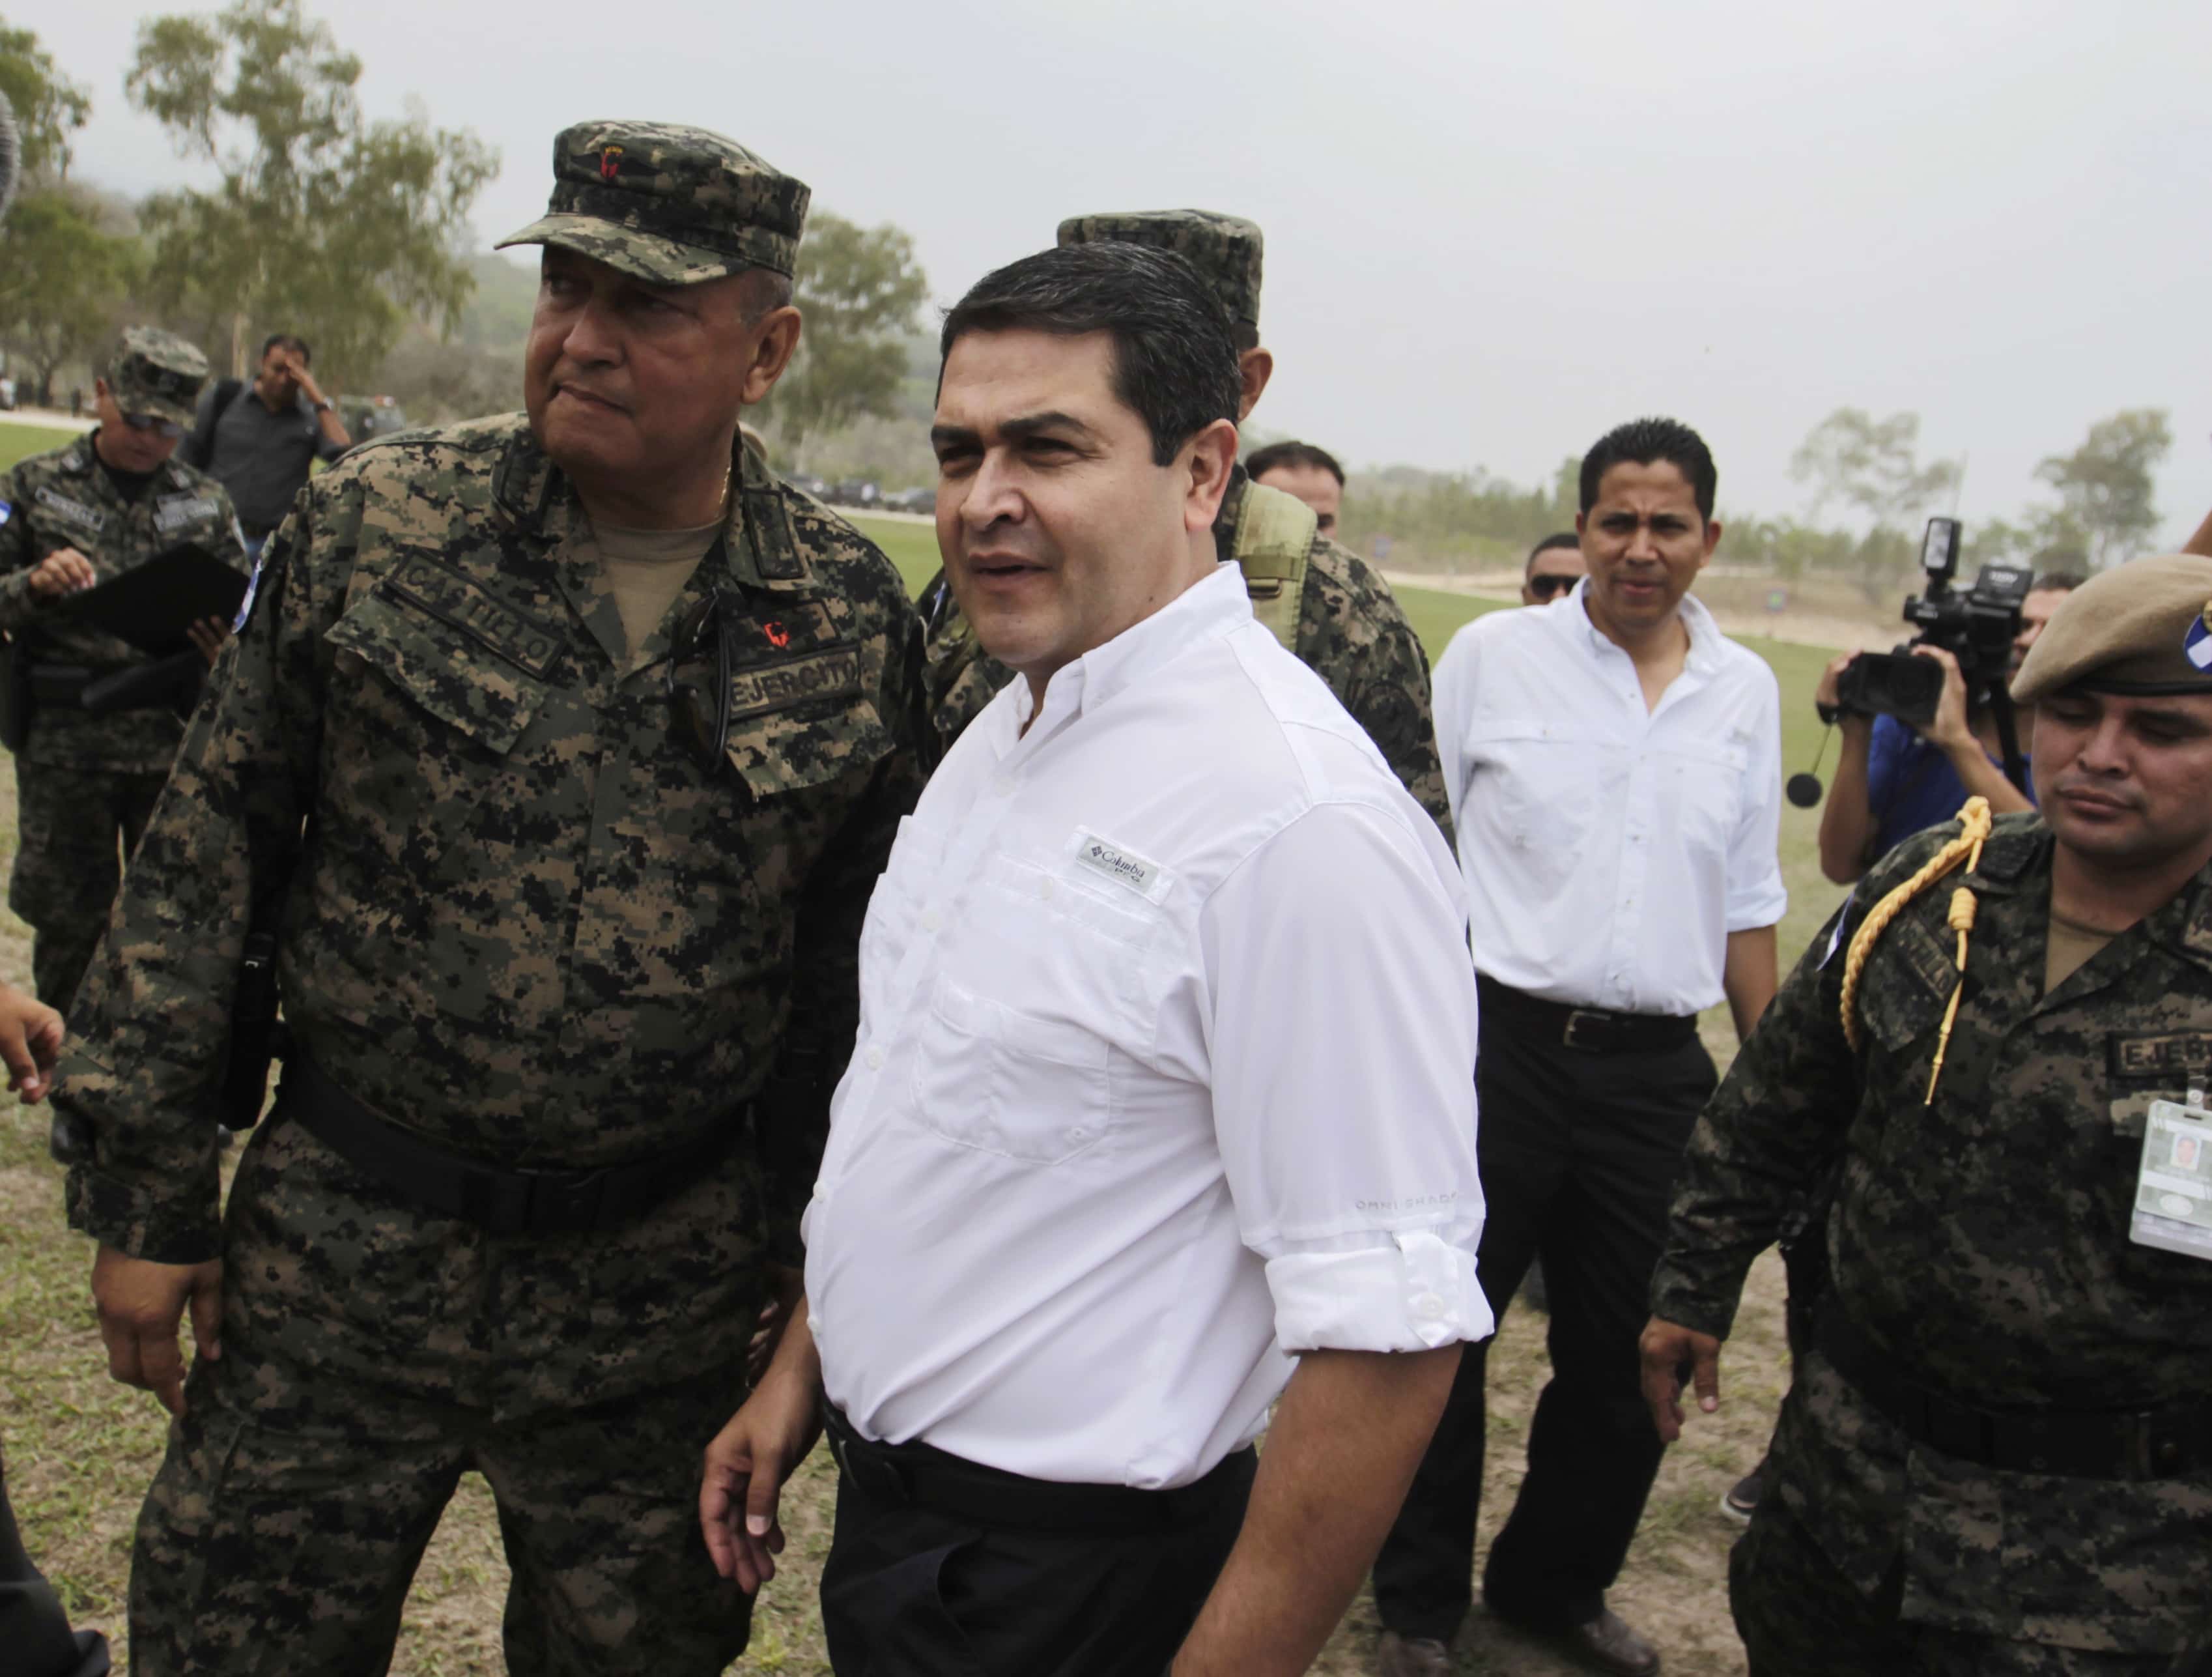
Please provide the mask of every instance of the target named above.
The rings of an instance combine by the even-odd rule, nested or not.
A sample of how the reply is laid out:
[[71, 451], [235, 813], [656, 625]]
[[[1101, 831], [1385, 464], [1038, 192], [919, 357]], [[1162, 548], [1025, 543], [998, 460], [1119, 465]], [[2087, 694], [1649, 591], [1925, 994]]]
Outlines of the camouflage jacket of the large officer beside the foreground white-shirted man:
[[[726, 542], [635, 657], [522, 416], [367, 445], [305, 489], [77, 1004], [75, 1228], [217, 1252], [210, 1102], [270, 898], [296, 1038], [451, 1153], [648, 1159], [796, 1080], [763, 1135], [796, 1228], [860, 918], [920, 790], [920, 628], [874, 544], [754, 456], [739, 473]], [[717, 586], [732, 721], [708, 774], [666, 681]], [[684, 681], [714, 686], [712, 650]]]

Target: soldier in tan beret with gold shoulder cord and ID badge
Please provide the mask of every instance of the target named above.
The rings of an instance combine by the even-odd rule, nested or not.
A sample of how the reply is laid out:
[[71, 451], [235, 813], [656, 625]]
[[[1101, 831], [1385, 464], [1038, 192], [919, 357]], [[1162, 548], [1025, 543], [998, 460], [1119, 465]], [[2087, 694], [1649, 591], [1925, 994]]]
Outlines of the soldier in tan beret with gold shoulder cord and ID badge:
[[1644, 1385], [1719, 1403], [1752, 1257], [1832, 1281], [1730, 1582], [1754, 1675], [2150, 1677], [2212, 1602], [2212, 560], [2051, 617], [2042, 814], [1900, 845], [1699, 1119]]

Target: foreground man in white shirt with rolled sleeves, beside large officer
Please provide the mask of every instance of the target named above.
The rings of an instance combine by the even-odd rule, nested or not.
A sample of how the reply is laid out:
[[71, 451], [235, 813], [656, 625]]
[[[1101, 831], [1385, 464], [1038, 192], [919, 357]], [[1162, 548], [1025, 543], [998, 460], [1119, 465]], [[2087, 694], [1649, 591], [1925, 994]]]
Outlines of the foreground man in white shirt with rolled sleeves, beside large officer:
[[1460, 885], [1217, 562], [1197, 270], [1026, 257], [942, 350], [938, 544], [1024, 679], [876, 885], [807, 1296], [701, 1524], [757, 1589], [825, 1418], [836, 1670], [1294, 1677], [1491, 1330]]

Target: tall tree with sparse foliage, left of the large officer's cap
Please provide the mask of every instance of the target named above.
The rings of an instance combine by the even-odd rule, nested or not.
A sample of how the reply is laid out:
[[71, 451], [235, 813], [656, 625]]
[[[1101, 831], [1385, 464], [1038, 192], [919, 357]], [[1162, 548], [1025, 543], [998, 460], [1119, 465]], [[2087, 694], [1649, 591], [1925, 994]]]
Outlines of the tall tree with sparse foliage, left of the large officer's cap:
[[257, 330], [299, 332], [343, 378], [380, 361], [411, 316], [460, 323], [476, 283], [469, 208], [498, 153], [420, 111], [369, 122], [358, 82], [361, 60], [299, 0], [139, 24], [131, 104], [221, 173], [212, 192], [146, 201], [153, 301], [228, 316], [234, 374]]

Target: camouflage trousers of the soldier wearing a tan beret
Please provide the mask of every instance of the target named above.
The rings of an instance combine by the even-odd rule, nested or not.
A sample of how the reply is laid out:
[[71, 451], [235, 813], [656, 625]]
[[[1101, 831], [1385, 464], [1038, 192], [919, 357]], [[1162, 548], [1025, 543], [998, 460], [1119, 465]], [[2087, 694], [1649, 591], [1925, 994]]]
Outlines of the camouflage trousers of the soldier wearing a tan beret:
[[1902, 1566], [1863, 1595], [1798, 1515], [1763, 1496], [1728, 1555], [1728, 1606], [1752, 1677], [2168, 1677], [2172, 1655], [1978, 1637], [1900, 1617]]

